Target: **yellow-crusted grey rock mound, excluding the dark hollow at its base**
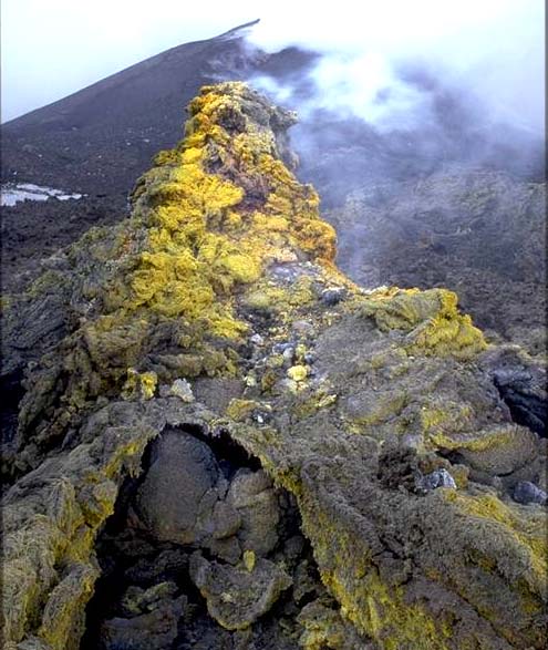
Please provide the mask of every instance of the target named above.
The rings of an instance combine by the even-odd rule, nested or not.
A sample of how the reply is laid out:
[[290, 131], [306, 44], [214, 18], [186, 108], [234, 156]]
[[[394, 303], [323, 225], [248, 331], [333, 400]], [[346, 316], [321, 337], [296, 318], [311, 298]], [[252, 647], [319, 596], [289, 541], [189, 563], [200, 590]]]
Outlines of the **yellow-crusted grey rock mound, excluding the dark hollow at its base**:
[[[301, 647], [544, 647], [546, 516], [511, 491], [545, 485], [545, 447], [509, 417], [485, 365], [497, 349], [454, 293], [338, 271], [318, 194], [290, 169], [293, 121], [244, 83], [201, 89], [131, 216], [11, 297], [7, 319], [56, 297], [65, 320], [27, 371], [7, 461], [7, 648], [79, 647], [97, 533], [147, 443], [185, 423], [293, 495], [335, 602], [297, 619]], [[183, 380], [196, 399], [169, 392]], [[452, 482], [428, 486], [442, 471]], [[238, 575], [265, 563], [246, 550]]]

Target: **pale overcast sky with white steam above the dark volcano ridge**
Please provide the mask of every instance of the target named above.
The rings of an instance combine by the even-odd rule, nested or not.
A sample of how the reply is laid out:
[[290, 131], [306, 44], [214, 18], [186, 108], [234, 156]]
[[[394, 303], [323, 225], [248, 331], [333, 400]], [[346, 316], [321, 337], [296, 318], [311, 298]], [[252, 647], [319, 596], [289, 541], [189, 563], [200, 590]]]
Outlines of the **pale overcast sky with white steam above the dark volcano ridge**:
[[[261, 18], [254, 40], [333, 52], [330, 74], [421, 58], [541, 128], [544, 0], [2, 0], [2, 121]], [[341, 59], [342, 56], [342, 59]], [[348, 68], [341, 61], [351, 61]], [[342, 68], [341, 68], [342, 65]], [[379, 74], [381, 73], [379, 72]], [[363, 76], [363, 75], [362, 75]]]

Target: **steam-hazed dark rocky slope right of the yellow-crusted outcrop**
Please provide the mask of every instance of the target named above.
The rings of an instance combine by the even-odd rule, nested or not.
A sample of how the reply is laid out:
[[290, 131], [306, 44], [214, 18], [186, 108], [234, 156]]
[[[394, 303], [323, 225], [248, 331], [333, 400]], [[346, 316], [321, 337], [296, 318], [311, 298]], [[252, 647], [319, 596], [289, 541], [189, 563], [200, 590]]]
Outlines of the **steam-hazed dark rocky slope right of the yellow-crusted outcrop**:
[[475, 322], [541, 352], [546, 187], [456, 166], [421, 180], [364, 184], [327, 217], [339, 265], [360, 285], [451, 287]]

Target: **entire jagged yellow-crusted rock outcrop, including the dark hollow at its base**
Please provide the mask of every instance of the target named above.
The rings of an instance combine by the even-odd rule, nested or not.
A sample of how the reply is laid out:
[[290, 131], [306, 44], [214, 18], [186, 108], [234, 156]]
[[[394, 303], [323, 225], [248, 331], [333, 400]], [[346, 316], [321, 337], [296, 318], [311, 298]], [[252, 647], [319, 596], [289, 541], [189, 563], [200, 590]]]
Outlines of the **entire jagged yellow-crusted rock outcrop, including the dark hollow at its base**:
[[338, 271], [291, 114], [189, 113], [132, 217], [7, 301], [8, 647], [542, 648], [542, 369]]

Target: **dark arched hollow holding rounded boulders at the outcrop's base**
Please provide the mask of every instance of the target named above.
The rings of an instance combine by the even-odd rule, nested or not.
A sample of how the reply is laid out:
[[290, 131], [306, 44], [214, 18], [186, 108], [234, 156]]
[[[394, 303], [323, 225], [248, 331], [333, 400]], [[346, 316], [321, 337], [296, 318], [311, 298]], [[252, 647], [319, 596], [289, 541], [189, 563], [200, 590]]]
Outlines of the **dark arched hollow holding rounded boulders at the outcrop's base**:
[[153, 441], [96, 553], [81, 650], [297, 649], [302, 609], [330, 602], [293, 497], [227, 431]]

